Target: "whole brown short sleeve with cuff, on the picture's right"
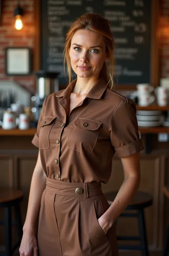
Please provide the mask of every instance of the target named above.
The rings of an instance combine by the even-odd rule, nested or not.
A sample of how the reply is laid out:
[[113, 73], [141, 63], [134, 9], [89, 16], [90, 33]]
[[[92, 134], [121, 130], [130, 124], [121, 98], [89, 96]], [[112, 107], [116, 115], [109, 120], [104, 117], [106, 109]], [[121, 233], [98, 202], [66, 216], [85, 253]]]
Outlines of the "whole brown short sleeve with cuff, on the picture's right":
[[109, 135], [120, 158], [144, 149], [139, 138], [136, 105], [133, 100], [124, 98], [117, 105], [109, 123]]

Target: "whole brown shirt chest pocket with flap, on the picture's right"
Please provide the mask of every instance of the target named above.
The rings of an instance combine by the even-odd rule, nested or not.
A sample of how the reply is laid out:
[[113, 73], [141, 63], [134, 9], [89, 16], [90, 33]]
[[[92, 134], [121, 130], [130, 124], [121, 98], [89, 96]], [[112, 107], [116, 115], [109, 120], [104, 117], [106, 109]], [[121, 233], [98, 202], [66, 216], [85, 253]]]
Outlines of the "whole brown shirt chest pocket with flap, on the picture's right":
[[96, 145], [101, 124], [95, 120], [78, 118], [69, 134], [68, 147], [84, 154], [91, 153]]

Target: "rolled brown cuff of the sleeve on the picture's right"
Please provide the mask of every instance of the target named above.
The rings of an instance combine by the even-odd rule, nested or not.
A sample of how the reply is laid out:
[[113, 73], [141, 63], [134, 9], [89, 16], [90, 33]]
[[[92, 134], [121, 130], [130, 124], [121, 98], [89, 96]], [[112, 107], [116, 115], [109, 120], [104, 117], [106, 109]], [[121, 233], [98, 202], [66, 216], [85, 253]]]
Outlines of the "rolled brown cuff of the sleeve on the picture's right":
[[122, 147], [114, 148], [116, 151], [116, 155], [121, 158], [125, 156], [132, 155], [144, 149], [141, 139], [137, 139], [132, 143], [124, 145]]

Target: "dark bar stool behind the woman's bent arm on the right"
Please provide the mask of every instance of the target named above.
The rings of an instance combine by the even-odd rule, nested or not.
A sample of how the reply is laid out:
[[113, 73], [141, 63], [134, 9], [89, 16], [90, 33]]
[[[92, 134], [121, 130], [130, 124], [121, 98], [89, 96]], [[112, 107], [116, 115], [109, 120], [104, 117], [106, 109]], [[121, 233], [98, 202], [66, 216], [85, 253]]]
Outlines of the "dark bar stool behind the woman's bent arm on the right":
[[[117, 195], [117, 191], [105, 194], [109, 205], [111, 205]], [[147, 234], [145, 228], [144, 208], [149, 207], [153, 203], [153, 196], [137, 191], [131, 202], [126, 207], [125, 212], [119, 217], [136, 217], [138, 218], [139, 236], [117, 236], [117, 240], [123, 241], [140, 241], [140, 245], [118, 245], [121, 250], [140, 250], [142, 256], [148, 256]], [[127, 210], [137, 210], [136, 213], [127, 212]]]

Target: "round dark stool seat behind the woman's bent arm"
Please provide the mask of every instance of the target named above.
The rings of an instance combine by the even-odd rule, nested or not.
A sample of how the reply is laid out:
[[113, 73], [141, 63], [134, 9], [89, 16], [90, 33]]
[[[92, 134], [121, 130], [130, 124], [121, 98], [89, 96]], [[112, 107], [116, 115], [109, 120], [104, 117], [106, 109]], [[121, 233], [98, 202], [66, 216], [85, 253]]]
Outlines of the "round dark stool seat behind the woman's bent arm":
[[[117, 191], [113, 191], [105, 194], [109, 204], [112, 204], [116, 195], [117, 195]], [[152, 195], [143, 191], [137, 191], [133, 196], [132, 200], [130, 201], [130, 203], [128, 204], [128, 206], [126, 207], [126, 210], [143, 209], [145, 207], [152, 205], [152, 203], [153, 203]]]

